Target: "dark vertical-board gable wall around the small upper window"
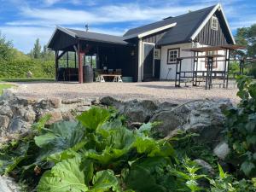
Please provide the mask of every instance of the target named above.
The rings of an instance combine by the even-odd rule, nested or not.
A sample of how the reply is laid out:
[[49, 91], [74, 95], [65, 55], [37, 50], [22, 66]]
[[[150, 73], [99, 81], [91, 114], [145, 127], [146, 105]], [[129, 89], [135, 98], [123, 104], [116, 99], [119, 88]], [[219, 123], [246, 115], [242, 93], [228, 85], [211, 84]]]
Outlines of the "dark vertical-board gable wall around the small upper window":
[[223, 44], [232, 44], [232, 39], [227, 26], [224, 23], [223, 16], [217, 11], [214, 16], [218, 18], [218, 30], [212, 29], [212, 18], [207, 22], [207, 25], [203, 27], [201, 32], [195, 38], [195, 42], [200, 44], [207, 44], [212, 46], [218, 46]]

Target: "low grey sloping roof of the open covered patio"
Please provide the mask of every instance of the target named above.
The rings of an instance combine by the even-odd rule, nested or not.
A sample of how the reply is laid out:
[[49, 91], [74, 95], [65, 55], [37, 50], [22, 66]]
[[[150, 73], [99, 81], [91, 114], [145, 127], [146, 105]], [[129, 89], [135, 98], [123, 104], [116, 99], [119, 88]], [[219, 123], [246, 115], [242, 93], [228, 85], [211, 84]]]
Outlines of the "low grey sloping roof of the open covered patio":
[[73, 32], [77, 38], [83, 38], [89, 41], [104, 42], [110, 44], [128, 44], [124, 41], [123, 37], [102, 34], [98, 32], [85, 32], [76, 29], [66, 28], [68, 31]]

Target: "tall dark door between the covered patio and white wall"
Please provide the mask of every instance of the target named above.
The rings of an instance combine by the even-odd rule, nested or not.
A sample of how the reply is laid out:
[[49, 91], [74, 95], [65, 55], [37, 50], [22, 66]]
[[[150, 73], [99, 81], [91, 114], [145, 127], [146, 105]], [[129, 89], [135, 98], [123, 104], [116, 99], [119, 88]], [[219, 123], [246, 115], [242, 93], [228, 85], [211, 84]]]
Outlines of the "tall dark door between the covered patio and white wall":
[[154, 44], [143, 44], [143, 80], [153, 78]]

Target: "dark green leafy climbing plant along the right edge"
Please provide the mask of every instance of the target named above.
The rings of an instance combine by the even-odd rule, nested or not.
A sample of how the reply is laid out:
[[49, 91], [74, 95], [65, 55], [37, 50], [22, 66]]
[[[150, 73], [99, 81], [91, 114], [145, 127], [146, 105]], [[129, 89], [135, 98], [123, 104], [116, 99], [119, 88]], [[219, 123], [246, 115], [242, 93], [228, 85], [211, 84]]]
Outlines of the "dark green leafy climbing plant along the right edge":
[[237, 79], [241, 102], [237, 108], [225, 111], [226, 135], [231, 157], [247, 177], [256, 176], [256, 84], [252, 79], [241, 76]]

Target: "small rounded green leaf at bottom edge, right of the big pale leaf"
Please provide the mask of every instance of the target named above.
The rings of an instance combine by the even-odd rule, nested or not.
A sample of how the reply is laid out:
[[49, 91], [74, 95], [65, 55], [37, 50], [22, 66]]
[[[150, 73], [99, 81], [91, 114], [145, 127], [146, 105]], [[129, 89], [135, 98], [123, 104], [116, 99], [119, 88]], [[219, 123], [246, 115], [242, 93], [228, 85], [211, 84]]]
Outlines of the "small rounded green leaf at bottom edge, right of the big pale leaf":
[[93, 187], [90, 192], [119, 191], [119, 181], [112, 170], [96, 172], [92, 183]]

